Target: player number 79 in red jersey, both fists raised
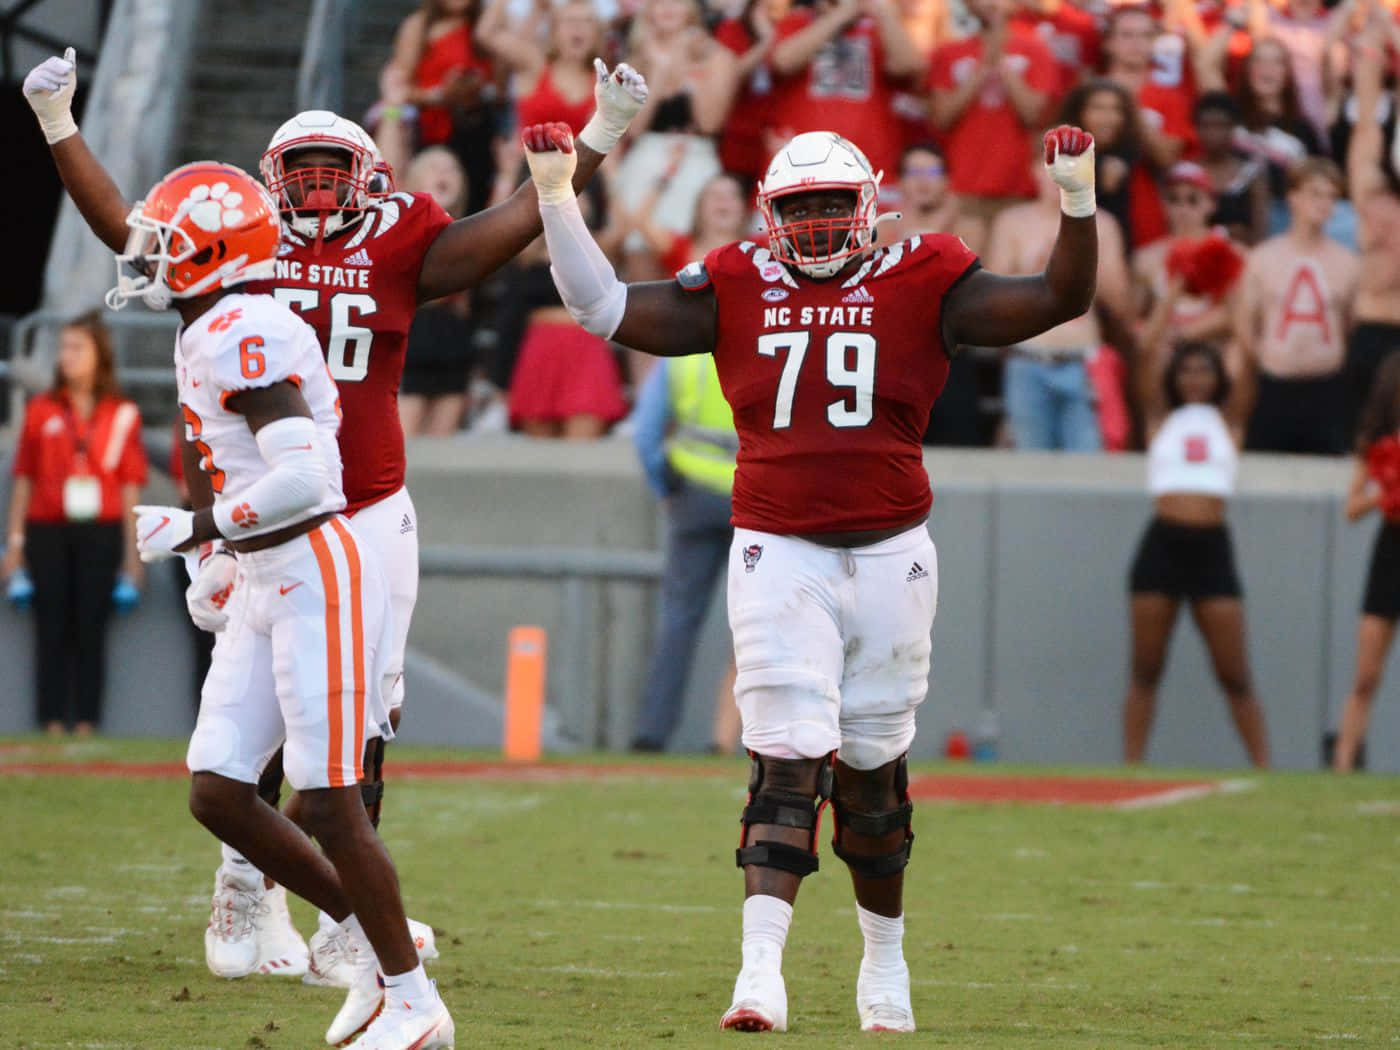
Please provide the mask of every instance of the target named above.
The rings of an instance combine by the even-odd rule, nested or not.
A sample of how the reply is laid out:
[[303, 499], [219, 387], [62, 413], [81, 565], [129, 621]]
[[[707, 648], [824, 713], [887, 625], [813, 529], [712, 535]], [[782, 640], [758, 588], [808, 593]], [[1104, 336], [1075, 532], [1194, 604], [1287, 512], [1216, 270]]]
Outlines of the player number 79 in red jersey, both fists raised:
[[580, 216], [567, 127], [524, 136], [570, 312], [647, 353], [713, 353], [739, 431], [728, 603], [753, 764], [736, 855], [743, 963], [721, 1025], [787, 1026], [783, 949], [830, 801], [865, 937], [861, 1028], [910, 1032], [906, 756], [938, 601], [920, 437], [958, 346], [1011, 346], [1089, 308], [1093, 140], [1067, 126], [1044, 137], [1063, 216], [1033, 277], [987, 273], [946, 234], [876, 246], [881, 176], [846, 139], [811, 132], [759, 186], [766, 244], [624, 286]]

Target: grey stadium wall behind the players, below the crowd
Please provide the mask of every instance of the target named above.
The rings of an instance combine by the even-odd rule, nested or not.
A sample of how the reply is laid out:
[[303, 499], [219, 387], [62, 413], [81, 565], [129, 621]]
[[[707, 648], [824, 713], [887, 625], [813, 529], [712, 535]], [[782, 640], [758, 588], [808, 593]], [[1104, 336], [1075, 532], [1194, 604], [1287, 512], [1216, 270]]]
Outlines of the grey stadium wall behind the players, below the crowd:
[[[430, 546], [655, 550], [662, 535], [626, 441], [420, 442], [409, 462], [420, 539]], [[939, 753], [945, 734], [972, 731], [991, 706], [1004, 760], [1117, 762], [1127, 567], [1151, 514], [1141, 456], [930, 449], [925, 465], [934, 477], [941, 594], [916, 752]], [[1336, 724], [1352, 673], [1376, 522], [1343, 519], [1348, 472], [1343, 461], [1246, 456], [1231, 510], [1256, 685], [1275, 763], [1287, 769], [1319, 766], [1322, 736]], [[164, 480], [153, 483], [151, 498], [168, 494]], [[143, 608], [118, 620], [112, 634], [106, 728], [115, 734], [169, 735], [192, 724], [189, 645], [179, 592], [164, 568], [153, 573]], [[424, 578], [405, 739], [496, 746], [505, 634], [512, 624], [539, 623], [554, 650], [547, 745], [626, 746], [650, 655], [654, 592], [633, 581]], [[0, 609], [7, 686], [0, 732], [31, 728], [29, 637], [24, 615]], [[727, 650], [717, 592], [678, 748], [708, 745]], [[1397, 696], [1392, 665], [1368, 749], [1372, 769], [1400, 771]], [[1173, 638], [1151, 759], [1245, 762], [1186, 616]]]

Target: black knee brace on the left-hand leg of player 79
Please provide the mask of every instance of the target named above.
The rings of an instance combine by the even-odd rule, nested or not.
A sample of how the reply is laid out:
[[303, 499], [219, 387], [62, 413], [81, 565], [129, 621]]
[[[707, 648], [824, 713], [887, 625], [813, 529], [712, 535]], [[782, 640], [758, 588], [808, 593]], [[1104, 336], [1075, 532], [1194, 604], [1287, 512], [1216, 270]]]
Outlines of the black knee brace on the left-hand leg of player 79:
[[[822, 806], [832, 797], [830, 757], [823, 759], [818, 770], [815, 797], [808, 794], [801, 760], [770, 759], [753, 752], [749, 752], [749, 757], [753, 759], [749, 767], [749, 802], [743, 806], [743, 816], [739, 818], [743, 830], [739, 833], [739, 848], [734, 854], [735, 864], [741, 868], [753, 864], [798, 876], [811, 875], [818, 867], [816, 833], [822, 820]], [[757, 825], [798, 827], [806, 832], [806, 848], [769, 840], [749, 846], [749, 829]]]

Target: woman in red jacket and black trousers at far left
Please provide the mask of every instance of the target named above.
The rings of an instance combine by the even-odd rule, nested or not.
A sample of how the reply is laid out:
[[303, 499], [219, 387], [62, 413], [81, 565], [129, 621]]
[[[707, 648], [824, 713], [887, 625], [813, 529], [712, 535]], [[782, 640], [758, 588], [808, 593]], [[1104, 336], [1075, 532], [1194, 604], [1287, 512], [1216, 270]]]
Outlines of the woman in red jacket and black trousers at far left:
[[132, 507], [144, 483], [141, 417], [116, 388], [111, 336], [80, 318], [59, 333], [53, 386], [25, 410], [0, 564], [34, 578], [38, 714], [50, 735], [91, 734], [101, 718], [118, 571], [141, 580]]

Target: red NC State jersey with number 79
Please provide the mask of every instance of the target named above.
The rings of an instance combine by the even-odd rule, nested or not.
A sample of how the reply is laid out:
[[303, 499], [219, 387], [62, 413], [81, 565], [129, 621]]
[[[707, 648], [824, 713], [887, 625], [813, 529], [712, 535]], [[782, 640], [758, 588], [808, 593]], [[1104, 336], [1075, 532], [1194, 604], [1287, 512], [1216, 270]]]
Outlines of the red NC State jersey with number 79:
[[739, 431], [735, 525], [855, 532], [928, 514], [920, 438], [948, 378], [942, 301], [976, 266], [959, 238], [934, 234], [826, 281], [752, 241], [678, 274], [714, 287], [714, 358]]

